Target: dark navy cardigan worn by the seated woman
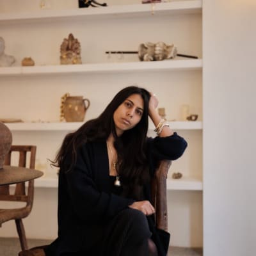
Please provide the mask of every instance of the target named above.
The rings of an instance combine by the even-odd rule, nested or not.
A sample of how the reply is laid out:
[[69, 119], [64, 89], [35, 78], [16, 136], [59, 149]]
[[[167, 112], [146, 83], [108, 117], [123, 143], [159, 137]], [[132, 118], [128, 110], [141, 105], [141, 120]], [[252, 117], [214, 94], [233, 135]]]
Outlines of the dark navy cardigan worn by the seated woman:
[[[148, 138], [150, 173], [154, 173], [159, 160], [175, 160], [182, 156], [186, 147], [186, 141], [176, 132], [164, 138]], [[77, 152], [74, 168], [69, 172], [60, 170], [58, 239], [45, 250], [47, 255], [90, 250], [100, 237], [104, 221], [134, 202], [132, 198], [110, 193], [108, 163], [106, 141], [85, 143]], [[150, 191], [146, 191], [145, 200], [150, 200]], [[154, 227], [150, 222], [152, 229]], [[161, 244], [157, 243], [157, 246]]]

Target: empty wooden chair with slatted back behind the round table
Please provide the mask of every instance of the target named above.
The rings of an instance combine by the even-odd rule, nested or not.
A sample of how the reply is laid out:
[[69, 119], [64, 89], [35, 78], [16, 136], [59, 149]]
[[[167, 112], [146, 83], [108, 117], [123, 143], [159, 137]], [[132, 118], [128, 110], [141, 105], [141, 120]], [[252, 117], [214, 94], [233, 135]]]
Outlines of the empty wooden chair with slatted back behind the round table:
[[[28, 167], [35, 169], [36, 146], [12, 145], [10, 152], [6, 155], [5, 165], [11, 165], [12, 153], [19, 152], [19, 166], [26, 167], [27, 153], [30, 152]], [[26, 191], [25, 182], [15, 184], [14, 194], [10, 194], [10, 186], [0, 186], [0, 201], [25, 202], [26, 206], [15, 209], [0, 209], [0, 227], [2, 223], [15, 220], [17, 232], [19, 234], [20, 246], [22, 250], [28, 249], [26, 235], [22, 218], [26, 218], [31, 212], [34, 196], [34, 180], [28, 182]]]

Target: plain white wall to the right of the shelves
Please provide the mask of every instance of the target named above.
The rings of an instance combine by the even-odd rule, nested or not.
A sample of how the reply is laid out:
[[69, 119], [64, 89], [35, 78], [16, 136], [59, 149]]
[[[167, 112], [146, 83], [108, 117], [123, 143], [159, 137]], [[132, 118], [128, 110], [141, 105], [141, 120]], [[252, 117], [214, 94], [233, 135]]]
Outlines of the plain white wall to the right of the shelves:
[[256, 2], [206, 0], [204, 255], [255, 255]]

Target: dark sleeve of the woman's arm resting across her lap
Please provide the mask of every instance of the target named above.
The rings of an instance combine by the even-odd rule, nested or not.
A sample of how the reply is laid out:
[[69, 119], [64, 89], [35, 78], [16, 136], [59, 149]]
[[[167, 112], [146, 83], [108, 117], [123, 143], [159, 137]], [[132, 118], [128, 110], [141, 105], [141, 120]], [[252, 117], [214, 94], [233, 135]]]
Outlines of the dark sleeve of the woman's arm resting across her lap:
[[65, 173], [68, 195], [79, 218], [106, 219], [134, 202], [131, 199], [99, 191], [92, 179], [92, 169], [90, 156], [86, 147], [83, 147], [77, 152], [77, 161], [72, 170]]

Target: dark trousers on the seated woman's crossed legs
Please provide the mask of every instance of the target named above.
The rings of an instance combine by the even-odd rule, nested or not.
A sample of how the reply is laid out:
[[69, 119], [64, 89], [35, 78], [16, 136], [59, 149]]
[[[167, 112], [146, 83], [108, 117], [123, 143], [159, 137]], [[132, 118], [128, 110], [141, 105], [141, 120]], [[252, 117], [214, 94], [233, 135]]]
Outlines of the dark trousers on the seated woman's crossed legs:
[[148, 240], [152, 235], [147, 217], [135, 209], [124, 209], [107, 223], [102, 241], [92, 252], [63, 253], [61, 256], [148, 256]]

